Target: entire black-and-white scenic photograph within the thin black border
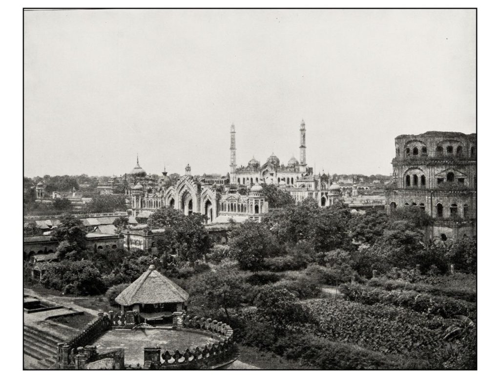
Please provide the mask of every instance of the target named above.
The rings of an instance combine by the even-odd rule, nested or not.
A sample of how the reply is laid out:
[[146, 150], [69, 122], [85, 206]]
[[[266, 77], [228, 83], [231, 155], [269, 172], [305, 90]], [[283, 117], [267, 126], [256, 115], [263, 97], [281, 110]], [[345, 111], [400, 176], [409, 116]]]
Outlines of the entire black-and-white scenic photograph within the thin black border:
[[477, 11], [22, 8], [16, 367], [477, 370]]

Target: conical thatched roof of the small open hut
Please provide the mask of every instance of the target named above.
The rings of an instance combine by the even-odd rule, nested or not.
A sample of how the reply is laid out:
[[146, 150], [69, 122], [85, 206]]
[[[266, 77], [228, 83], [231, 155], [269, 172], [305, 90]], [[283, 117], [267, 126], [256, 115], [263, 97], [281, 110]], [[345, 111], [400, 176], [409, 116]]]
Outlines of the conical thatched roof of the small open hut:
[[179, 303], [185, 302], [189, 294], [179, 285], [154, 269], [154, 265], [124, 289], [115, 299], [116, 303], [130, 306], [135, 303]]

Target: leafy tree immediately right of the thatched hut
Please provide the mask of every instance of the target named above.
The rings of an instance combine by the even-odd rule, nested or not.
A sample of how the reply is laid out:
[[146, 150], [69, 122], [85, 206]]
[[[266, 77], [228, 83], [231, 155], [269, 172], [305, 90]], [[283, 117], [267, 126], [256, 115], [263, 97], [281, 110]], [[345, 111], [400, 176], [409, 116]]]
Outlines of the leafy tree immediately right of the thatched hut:
[[235, 272], [225, 269], [207, 271], [196, 276], [189, 288], [190, 301], [209, 311], [222, 310], [230, 319], [229, 309], [239, 309], [249, 285]]

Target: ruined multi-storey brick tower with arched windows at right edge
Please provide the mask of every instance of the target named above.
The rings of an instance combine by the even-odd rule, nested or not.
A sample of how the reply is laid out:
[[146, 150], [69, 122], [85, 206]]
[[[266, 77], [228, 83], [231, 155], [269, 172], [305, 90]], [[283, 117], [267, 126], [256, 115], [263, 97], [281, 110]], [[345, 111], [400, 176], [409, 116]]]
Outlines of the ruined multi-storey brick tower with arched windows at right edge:
[[427, 131], [395, 138], [395, 187], [386, 210], [418, 206], [433, 218], [428, 238], [476, 235], [476, 134]]

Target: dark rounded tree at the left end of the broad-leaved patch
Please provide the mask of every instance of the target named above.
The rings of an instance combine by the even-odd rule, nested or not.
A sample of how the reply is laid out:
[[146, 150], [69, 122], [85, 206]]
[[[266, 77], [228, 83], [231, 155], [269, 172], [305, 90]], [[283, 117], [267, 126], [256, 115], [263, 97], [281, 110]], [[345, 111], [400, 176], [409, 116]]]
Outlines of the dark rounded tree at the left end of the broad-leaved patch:
[[264, 285], [255, 300], [257, 313], [268, 321], [278, 332], [296, 324], [311, 321], [309, 311], [286, 288]]

